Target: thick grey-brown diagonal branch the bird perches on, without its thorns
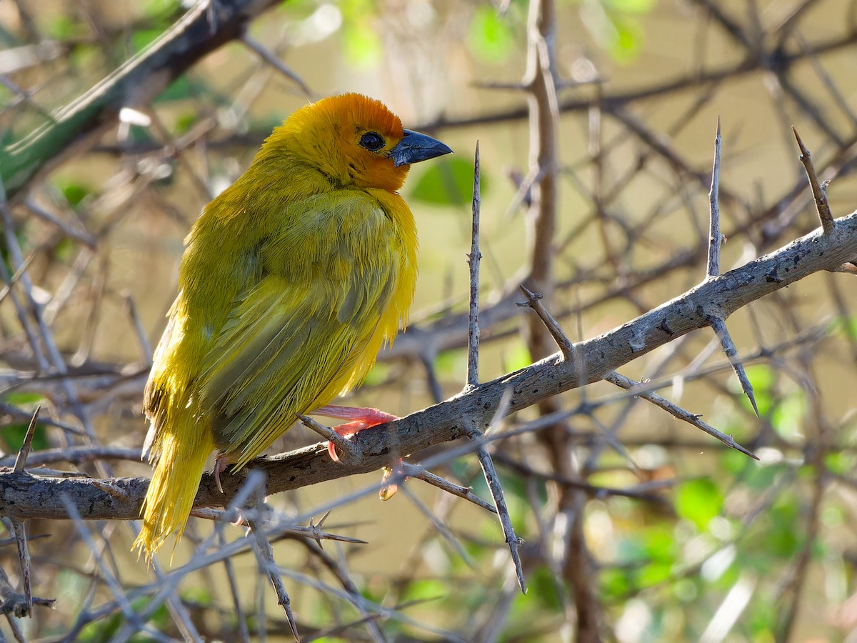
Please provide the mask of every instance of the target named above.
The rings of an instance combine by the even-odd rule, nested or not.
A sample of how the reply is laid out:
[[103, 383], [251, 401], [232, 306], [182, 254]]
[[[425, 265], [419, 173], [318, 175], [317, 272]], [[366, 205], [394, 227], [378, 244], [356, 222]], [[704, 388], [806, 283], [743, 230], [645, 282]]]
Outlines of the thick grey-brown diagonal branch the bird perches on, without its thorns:
[[[512, 391], [509, 412], [517, 412], [563, 391], [597, 382], [608, 372], [656, 347], [707, 327], [711, 315], [725, 319], [747, 303], [812, 273], [834, 271], [842, 261], [854, 255], [857, 255], [857, 212], [837, 219], [836, 228], [830, 234], [824, 234], [819, 228], [776, 252], [708, 279], [619, 328], [576, 343], [575, 354], [580, 358], [575, 364], [566, 362], [561, 352], [554, 353], [524, 369], [482, 382], [438, 405], [393, 423], [381, 424], [373, 430], [361, 431], [352, 440], [361, 453], [358, 465], [346, 468], [333, 462], [327, 456], [327, 446], [319, 443], [287, 454], [259, 458], [247, 468], [255, 467], [267, 473], [268, 493], [376, 471], [389, 462], [390, 439], [398, 441], [402, 453], [412, 454], [464, 437], [466, 428], [462, 418], [486, 429], [507, 391]], [[217, 507], [229, 502], [243, 484], [244, 474], [227, 474], [222, 479], [225, 496], [217, 490], [213, 473], [205, 474], [195, 507]], [[145, 478], [111, 480], [111, 484], [127, 492], [125, 502], [95, 488], [87, 478], [40, 478], [30, 472], [0, 472], [0, 483], [3, 514], [22, 520], [68, 517], [59, 502], [61, 493], [75, 502], [82, 518], [134, 520], [139, 515], [148, 481]]]

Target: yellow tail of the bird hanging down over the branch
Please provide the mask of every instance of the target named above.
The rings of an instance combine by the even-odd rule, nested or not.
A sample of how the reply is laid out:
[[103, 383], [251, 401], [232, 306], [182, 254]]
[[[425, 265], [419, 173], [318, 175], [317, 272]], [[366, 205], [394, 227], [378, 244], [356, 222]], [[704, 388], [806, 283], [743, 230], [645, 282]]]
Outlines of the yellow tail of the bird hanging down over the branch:
[[166, 538], [176, 531], [178, 544], [193, 508], [207, 457], [213, 450], [213, 437], [208, 431], [187, 431], [182, 436], [165, 431], [156, 436], [152, 457], [157, 459], [157, 464], [141, 509], [143, 528], [133, 547], [144, 553], [147, 560], [151, 560]]

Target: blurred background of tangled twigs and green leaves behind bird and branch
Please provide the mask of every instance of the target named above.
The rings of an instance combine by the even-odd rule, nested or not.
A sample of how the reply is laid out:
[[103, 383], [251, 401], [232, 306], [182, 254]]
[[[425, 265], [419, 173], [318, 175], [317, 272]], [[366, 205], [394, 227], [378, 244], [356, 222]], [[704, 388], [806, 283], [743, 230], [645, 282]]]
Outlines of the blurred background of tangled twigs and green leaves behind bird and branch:
[[[210, 39], [183, 33], [200, 16]], [[401, 416], [464, 384], [476, 141], [483, 382], [555, 351], [515, 305], [522, 281], [583, 340], [704, 279], [718, 115], [723, 272], [818, 226], [792, 125], [834, 216], [857, 201], [850, 0], [6, 0], [0, 43], [0, 465], [40, 405], [33, 449], [59, 450], [33, 454], [43, 475], [148, 475], [142, 388], [183, 237], [322, 96], [381, 99], [455, 151], [405, 183], [411, 328], [348, 400]], [[760, 418], [710, 330], [621, 370], [759, 462], [606, 382], [508, 418], [518, 431], [492, 453], [525, 596], [496, 516], [419, 480], [338, 503], [326, 531], [367, 544], [280, 538], [304, 640], [857, 640], [854, 288], [817, 273], [728, 320]], [[273, 451], [317, 441], [296, 427]], [[433, 471], [490, 498], [472, 454]], [[276, 520], [313, 515], [378, 478], [268, 503]], [[3, 526], [8, 598], [22, 580]], [[129, 523], [31, 521], [33, 594], [56, 603], [4, 614], [0, 640], [291, 640], [251, 549], [183, 567], [212, 530], [191, 520], [165, 600]]]

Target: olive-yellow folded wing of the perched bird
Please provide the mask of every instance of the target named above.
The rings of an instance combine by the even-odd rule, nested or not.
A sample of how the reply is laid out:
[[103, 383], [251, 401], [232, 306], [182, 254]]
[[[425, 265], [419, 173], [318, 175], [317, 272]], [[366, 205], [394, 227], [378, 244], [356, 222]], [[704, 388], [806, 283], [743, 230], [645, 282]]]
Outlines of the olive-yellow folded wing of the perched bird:
[[295, 207], [261, 247], [264, 276], [237, 297], [199, 382], [215, 441], [239, 465], [357, 383], [399, 325], [391, 301], [412, 254], [379, 202], [348, 191]]

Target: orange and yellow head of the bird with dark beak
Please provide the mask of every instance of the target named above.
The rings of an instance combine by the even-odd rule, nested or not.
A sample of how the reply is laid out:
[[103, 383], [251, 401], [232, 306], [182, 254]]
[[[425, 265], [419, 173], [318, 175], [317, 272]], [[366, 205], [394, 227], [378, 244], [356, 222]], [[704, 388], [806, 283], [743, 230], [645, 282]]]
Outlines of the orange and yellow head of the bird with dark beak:
[[451, 153], [431, 136], [403, 129], [381, 101], [359, 93], [321, 99], [274, 129], [266, 147], [288, 141], [338, 187], [402, 187], [411, 163]]

